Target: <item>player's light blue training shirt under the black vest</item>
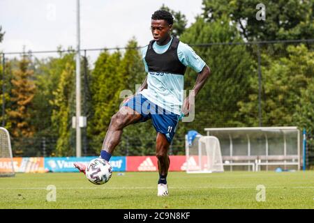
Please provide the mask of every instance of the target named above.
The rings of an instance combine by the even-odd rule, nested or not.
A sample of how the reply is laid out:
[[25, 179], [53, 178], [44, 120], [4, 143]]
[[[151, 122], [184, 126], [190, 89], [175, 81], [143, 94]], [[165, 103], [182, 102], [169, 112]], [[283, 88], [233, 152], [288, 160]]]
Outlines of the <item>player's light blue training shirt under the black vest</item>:
[[[163, 54], [172, 43], [172, 38], [166, 45], [158, 45], [156, 41], [153, 49], [157, 54]], [[154, 104], [166, 109], [174, 114], [181, 115], [181, 106], [184, 100], [184, 75], [167, 72], [149, 72], [145, 56], [148, 45], [142, 48], [142, 59], [147, 74], [147, 89], [139, 93]], [[177, 54], [179, 61], [199, 73], [206, 63], [198, 56], [194, 50], [185, 43], [179, 42]]]

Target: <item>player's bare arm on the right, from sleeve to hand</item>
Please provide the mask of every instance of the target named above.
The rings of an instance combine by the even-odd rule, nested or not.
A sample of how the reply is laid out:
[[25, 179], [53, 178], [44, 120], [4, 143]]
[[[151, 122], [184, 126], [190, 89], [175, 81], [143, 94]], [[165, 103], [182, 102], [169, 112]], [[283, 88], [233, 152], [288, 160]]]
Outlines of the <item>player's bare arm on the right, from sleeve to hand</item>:
[[200, 92], [204, 84], [207, 82], [209, 75], [211, 75], [211, 69], [205, 64], [202, 71], [197, 75], [197, 79], [192, 91], [190, 91], [188, 97], [186, 97], [186, 99], [184, 100], [181, 109], [181, 112], [184, 115], [188, 114], [188, 112], [190, 111], [190, 102], [195, 101], [196, 95]]

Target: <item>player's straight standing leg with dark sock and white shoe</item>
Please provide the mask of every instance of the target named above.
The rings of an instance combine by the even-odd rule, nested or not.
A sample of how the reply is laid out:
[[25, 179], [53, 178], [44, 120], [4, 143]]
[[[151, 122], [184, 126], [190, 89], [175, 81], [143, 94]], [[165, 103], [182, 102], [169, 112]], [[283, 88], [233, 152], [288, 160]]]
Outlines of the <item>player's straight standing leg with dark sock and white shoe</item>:
[[170, 167], [170, 158], [167, 155], [170, 143], [165, 134], [158, 132], [156, 138], [156, 157], [158, 159], [158, 196], [167, 196], [169, 194], [167, 187], [167, 174]]

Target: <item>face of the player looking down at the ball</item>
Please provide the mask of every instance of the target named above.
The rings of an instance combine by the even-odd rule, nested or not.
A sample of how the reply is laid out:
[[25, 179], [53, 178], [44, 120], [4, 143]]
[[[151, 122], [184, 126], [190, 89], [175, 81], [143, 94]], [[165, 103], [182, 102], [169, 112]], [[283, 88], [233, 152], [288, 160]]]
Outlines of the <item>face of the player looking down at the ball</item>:
[[165, 43], [170, 37], [172, 25], [165, 20], [151, 20], [151, 33], [158, 44]]

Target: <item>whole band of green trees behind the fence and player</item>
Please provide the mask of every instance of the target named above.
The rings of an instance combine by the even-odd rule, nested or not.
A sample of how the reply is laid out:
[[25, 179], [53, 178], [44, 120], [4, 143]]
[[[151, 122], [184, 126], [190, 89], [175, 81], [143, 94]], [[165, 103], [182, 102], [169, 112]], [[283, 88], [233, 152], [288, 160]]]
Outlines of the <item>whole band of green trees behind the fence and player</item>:
[[[297, 125], [314, 135], [313, 42], [246, 44], [247, 41], [313, 39], [313, 1], [263, 1], [267, 8], [265, 21], [255, 18], [257, 3], [260, 2], [204, 0], [201, 15], [190, 26], [181, 12], [161, 6], [174, 15], [172, 34], [193, 47], [212, 71], [197, 95], [195, 121], [179, 123], [170, 153], [184, 154], [184, 134], [191, 129], [204, 134], [204, 128], [208, 127], [259, 125], [258, 52], [262, 71], [262, 125]], [[6, 36], [0, 28], [0, 41], [3, 38]], [[20, 68], [22, 58], [6, 60], [4, 80], [0, 81], [5, 89], [6, 111], [0, 121], [5, 121], [10, 131], [15, 128], [9, 114], [14, 109], [13, 92], [17, 91], [12, 80], [19, 72], [31, 73], [26, 79], [36, 87], [31, 107], [25, 114], [32, 134], [19, 136], [24, 144], [18, 146], [15, 155], [75, 155], [74, 55], [73, 49], [61, 52], [61, 47], [56, 57], [39, 60], [29, 55], [31, 63], [27, 70]], [[1, 65], [1, 73], [2, 70]], [[100, 52], [94, 64], [88, 56], [82, 57], [81, 70], [82, 104], [88, 120], [83, 130], [84, 155], [98, 155], [110, 118], [119, 110], [125, 96], [121, 92], [135, 93], [147, 74], [137, 41], [132, 37], [125, 49]], [[197, 73], [188, 68], [186, 90], [193, 89], [196, 77]], [[1, 98], [2, 95], [1, 89]], [[114, 155], [154, 155], [155, 137], [151, 121], [130, 125], [124, 129]], [[308, 141], [313, 154], [313, 138], [309, 137]]]

